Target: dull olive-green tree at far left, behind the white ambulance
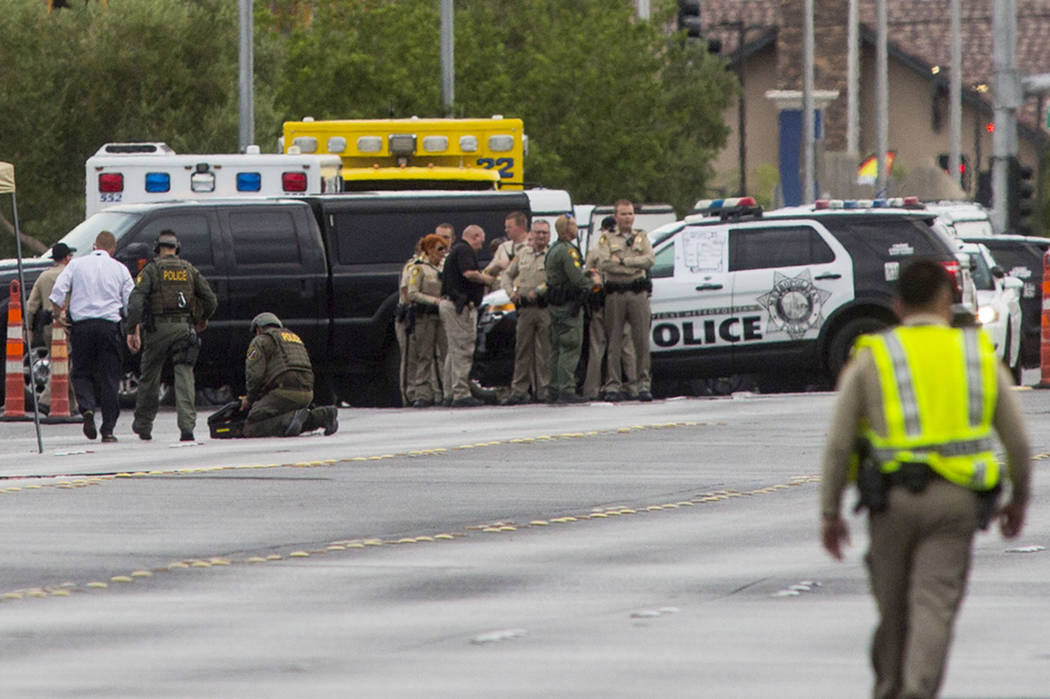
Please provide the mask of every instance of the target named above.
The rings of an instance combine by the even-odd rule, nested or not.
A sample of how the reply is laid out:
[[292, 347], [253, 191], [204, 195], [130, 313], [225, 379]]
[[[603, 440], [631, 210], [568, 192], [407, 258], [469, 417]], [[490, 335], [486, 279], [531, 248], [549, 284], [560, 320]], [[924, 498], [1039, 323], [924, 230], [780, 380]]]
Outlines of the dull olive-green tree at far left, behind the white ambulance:
[[[235, 152], [236, 5], [223, 0], [0, 0], [0, 158], [15, 163], [26, 232], [52, 242], [84, 216], [84, 162], [113, 141]], [[256, 41], [257, 123], [272, 133], [276, 45]], [[9, 245], [8, 245], [9, 243]], [[14, 253], [0, 239], [0, 253]]]

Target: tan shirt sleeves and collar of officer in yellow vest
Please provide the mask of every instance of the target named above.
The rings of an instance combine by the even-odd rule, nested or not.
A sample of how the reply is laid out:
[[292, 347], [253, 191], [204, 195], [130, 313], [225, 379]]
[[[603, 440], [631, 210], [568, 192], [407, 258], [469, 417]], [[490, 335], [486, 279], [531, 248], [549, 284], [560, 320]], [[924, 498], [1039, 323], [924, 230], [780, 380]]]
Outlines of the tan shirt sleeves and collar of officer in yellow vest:
[[[905, 325], [944, 325], [936, 316], [916, 315], [907, 318]], [[1013, 380], [1002, 364], [996, 374], [995, 414], [992, 426], [1006, 449], [1012, 500], [1027, 504], [1029, 495], [1030, 464], [1028, 435], [1021, 417], [1021, 406], [1011, 386]], [[821, 514], [838, 515], [842, 510], [842, 494], [846, 488], [846, 467], [854, 451], [861, 421], [866, 420], [877, 435], [885, 436], [886, 419], [882, 407], [882, 387], [879, 372], [870, 352], [853, 358], [839, 377], [838, 400], [827, 443], [824, 446], [823, 478], [821, 480]]]

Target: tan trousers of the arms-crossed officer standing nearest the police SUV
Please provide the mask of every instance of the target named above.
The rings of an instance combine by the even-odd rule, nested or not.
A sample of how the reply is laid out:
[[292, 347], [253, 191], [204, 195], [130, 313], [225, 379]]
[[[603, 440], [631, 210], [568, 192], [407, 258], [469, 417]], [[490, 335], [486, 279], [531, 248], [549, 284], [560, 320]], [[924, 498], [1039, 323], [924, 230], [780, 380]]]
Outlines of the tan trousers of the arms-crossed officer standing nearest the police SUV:
[[[640, 390], [650, 390], [652, 377], [649, 368], [649, 294], [645, 292], [613, 292], [605, 297], [605, 335], [609, 347], [606, 352], [606, 390], [625, 391], [637, 396]], [[621, 365], [624, 354], [624, 325], [630, 324], [631, 344], [634, 345], [634, 378], [628, 372], [628, 384], [624, 386]]]

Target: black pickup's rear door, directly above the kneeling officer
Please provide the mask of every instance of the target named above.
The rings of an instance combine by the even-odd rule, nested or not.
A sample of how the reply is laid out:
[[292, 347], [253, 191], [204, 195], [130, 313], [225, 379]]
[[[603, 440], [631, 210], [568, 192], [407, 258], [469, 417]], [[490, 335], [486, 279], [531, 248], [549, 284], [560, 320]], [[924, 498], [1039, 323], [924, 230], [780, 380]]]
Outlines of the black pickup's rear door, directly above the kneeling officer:
[[269, 311], [302, 338], [314, 363], [328, 341], [328, 272], [306, 204], [237, 205], [218, 213], [228, 246], [230, 361], [244, 372], [252, 318]]

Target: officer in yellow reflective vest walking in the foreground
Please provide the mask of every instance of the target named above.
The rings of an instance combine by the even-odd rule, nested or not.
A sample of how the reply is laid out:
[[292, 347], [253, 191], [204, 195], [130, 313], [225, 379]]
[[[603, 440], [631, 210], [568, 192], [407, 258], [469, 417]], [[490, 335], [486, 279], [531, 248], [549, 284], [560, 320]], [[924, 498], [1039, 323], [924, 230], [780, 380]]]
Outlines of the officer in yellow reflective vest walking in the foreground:
[[[847, 481], [868, 510], [876, 699], [938, 695], [974, 532], [998, 514], [1003, 535], [1016, 536], [1030, 490], [1010, 375], [983, 331], [949, 326], [949, 274], [915, 261], [898, 292], [901, 324], [862, 336], [839, 378], [821, 481], [823, 546], [835, 558], [849, 539], [840, 514]], [[992, 430], [1011, 485], [999, 510]]]

